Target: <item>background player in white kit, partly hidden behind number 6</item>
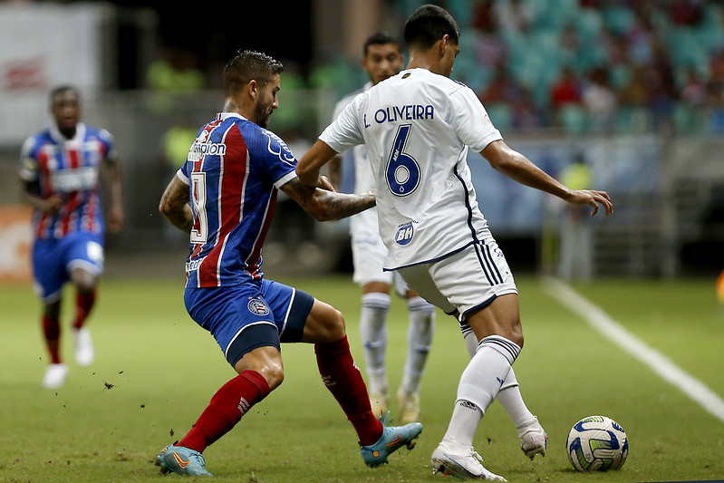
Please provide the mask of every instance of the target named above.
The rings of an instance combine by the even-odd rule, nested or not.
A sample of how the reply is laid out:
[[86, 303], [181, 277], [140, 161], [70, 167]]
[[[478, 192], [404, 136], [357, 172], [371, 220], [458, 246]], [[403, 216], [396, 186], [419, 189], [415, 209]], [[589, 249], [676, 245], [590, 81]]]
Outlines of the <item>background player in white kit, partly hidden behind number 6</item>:
[[[372, 34], [364, 43], [362, 68], [370, 77], [362, 90], [352, 92], [337, 102], [333, 119], [361, 92], [400, 72], [404, 58], [400, 43], [390, 34]], [[333, 169], [333, 166], [336, 169]], [[363, 145], [355, 146], [336, 157], [330, 165], [331, 172], [341, 170], [341, 178], [353, 179], [350, 192], [363, 193], [376, 187], [374, 175]], [[335, 182], [335, 188], [345, 191]], [[410, 290], [397, 272], [382, 270], [387, 258], [387, 248], [382, 243], [377, 224], [377, 209], [371, 208], [350, 217], [352, 237], [352, 280], [362, 287], [362, 312], [360, 314], [360, 335], [370, 388], [372, 412], [386, 414], [389, 407], [389, 384], [387, 380], [386, 319], [390, 310], [390, 288], [394, 281], [395, 290], [407, 299], [410, 313], [407, 342], [408, 353], [404, 374], [397, 399], [400, 403], [400, 420], [403, 424], [420, 420], [420, 378], [430, 353], [430, 343], [435, 327], [435, 307], [420, 295]]]

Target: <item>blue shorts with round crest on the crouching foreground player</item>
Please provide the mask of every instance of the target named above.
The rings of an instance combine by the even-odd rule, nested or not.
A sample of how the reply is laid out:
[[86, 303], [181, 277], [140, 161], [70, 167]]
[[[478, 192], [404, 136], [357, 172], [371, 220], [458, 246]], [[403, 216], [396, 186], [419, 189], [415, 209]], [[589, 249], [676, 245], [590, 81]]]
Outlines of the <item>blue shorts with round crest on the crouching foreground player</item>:
[[184, 303], [191, 318], [217, 340], [234, 367], [258, 347], [302, 340], [314, 297], [272, 280], [242, 285], [187, 288]]

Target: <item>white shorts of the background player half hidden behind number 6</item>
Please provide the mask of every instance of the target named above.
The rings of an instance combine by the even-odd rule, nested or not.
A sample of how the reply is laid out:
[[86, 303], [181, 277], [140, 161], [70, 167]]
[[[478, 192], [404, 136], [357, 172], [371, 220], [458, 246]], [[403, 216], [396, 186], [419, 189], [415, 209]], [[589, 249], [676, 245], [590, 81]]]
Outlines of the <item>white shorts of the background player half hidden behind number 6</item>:
[[367, 209], [350, 218], [350, 234], [354, 264], [352, 281], [359, 285], [371, 282], [394, 285], [395, 292], [404, 296], [407, 285], [400, 274], [382, 270], [387, 260], [387, 247], [384, 246], [377, 227], [377, 210]]

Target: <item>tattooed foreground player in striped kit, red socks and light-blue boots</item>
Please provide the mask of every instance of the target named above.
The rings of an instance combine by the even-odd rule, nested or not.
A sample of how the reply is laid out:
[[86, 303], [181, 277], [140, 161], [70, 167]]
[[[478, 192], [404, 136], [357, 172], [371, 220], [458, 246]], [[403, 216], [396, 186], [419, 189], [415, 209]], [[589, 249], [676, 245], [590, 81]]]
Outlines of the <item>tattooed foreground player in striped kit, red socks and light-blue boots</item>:
[[282, 69], [264, 53], [249, 51], [227, 63], [224, 112], [198, 131], [160, 201], [161, 213], [189, 233], [188, 314], [215, 337], [238, 373], [188, 434], [161, 450], [162, 471], [210, 476], [204, 449], [284, 380], [280, 343], [314, 343], [323, 382], [352, 422], [368, 466], [410, 448], [422, 430], [419, 422], [389, 427], [374, 417], [339, 311], [263, 276], [262, 246], [279, 189], [319, 220], [348, 217], [375, 203], [373, 192], [336, 193], [323, 177], [314, 188], [299, 182], [294, 155], [265, 129], [278, 107]]

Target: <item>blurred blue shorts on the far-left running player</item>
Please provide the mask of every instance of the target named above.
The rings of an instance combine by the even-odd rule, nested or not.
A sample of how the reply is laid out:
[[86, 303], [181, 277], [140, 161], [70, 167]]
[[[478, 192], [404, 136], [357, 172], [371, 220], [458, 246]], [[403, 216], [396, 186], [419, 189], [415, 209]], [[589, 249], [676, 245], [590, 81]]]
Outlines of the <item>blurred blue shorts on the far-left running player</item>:
[[33, 244], [35, 292], [50, 303], [61, 297], [71, 270], [80, 267], [93, 275], [103, 272], [103, 237], [74, 232], [63, 238], [36, 239]]

